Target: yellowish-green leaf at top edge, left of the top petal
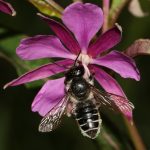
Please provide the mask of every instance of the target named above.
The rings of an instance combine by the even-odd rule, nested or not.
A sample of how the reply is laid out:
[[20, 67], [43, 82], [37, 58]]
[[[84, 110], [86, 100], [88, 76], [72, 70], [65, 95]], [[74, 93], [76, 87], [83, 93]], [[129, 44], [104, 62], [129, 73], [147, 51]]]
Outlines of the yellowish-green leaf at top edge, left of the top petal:
[[29, 0], [41, 13], [48, 16], [61, 18], [61, 12], [54, 6], [48, 4], [44, 0]]

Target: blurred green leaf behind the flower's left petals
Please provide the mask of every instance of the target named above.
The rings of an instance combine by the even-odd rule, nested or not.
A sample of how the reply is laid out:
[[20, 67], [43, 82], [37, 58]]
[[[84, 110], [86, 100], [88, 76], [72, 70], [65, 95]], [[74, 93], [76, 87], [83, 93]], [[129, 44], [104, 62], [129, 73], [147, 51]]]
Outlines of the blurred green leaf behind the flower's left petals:
[[[17, 70], [18, 75], [22, 75], [23, 73], [30, 71], [42, 64], [48, 63], [48, 59], [41, 59], [35, 61], [23, 61], [16, 55], [16, 47], [19, 44], [19, 41], [25, 38], [25, 35], [16, 35], [8, 38], [4, 38], [0, 40], [0, 56], [6, 58]], [[27, 87], [37, 87], [42, 85], [43, 82], [37, 81], [32, 84], [27, 84]]]

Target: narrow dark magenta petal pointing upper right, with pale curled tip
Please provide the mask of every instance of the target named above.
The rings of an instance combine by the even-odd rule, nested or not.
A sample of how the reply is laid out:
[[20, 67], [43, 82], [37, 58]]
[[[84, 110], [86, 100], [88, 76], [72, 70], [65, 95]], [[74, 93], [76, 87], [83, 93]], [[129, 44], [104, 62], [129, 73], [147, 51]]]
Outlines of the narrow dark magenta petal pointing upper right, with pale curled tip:
[[122, 31], [119, 26], [115, 26], [112, 29], [102, 34], [95, 43], [91, 44], [88, 48], [88, 54], [92, 57], [97, 57], [102, 52], [114, 47], [121, 40]]

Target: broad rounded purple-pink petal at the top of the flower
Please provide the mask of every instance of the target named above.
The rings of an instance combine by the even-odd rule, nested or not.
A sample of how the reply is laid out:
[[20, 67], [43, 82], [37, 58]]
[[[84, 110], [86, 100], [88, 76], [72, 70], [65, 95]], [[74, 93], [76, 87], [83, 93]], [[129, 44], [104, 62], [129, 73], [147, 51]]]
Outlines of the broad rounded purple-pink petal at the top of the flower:
[[96, 5], [78, 2], [64, 10], [62, 20], [74, 33], [82, 51], [86, 53], [89, 42], [102, 26], [103, 12]]

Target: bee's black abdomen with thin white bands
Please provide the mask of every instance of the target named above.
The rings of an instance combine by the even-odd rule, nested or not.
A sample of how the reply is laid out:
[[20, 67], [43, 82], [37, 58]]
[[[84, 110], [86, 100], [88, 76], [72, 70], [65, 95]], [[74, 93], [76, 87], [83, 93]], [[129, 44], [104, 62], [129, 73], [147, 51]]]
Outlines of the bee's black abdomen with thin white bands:
[[79, 102], [74, 110], [74, 116], [83, 135], [90, 138], [98, 135], [101, 119], [96, 105], [91, 100]]

